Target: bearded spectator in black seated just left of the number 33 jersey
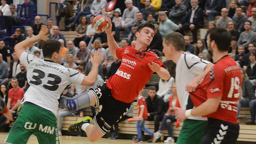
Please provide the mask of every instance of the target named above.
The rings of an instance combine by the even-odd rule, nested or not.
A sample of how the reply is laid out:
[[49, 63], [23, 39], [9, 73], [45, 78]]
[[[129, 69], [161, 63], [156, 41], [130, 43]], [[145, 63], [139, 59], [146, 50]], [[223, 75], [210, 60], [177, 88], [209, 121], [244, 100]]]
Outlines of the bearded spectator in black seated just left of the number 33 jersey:
[[27, 86], [27, 68], [26, 66], [20, 62], [20, 70], [21, 72], [16, 75], [16, 78], [19, 83], [19, 87], [22, 88], [25, 91], [25, 88]]

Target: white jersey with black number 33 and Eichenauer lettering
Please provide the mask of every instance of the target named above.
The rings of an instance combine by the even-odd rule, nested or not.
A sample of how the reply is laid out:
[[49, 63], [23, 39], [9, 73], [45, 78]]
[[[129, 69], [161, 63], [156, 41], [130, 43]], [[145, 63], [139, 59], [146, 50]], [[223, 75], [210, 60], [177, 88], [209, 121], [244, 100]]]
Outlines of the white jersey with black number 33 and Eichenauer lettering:
[[55, 115], [62, 92], [70, 84], [80, 85], [84, 77], [74, 69], [51, 60], [41, 60], [26, 51], [21, 54], [20, 61], [27, 67], [27, 80], [30, 85], [22, 103], [34, 103]]

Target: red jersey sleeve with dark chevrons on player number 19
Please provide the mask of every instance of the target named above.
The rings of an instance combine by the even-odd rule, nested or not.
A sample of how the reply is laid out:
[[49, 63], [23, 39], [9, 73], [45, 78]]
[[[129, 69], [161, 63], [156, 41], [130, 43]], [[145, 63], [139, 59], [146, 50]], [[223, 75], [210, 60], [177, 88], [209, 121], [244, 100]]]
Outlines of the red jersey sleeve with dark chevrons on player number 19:
[[219, 67], [212, 67], [210, 70], [211, 82], [206, 90], [207, 98], [223, 96], [225, 72]]

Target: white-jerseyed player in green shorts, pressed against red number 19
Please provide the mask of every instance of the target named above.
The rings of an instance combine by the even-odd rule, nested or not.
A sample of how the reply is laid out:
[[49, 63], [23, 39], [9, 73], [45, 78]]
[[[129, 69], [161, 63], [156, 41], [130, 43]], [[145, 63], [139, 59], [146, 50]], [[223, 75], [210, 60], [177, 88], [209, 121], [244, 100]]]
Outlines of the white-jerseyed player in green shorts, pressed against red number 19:
[[[166, 58], [176, 63], [175, 81], [181, 108], [192, 109], [194, 105], [188, 92], [196, 90], [198, 83], [210, 71], [213, 64], [191, 53], [185, 53], [185, 40], [180, 33], [175, 32], [165, 36], [163, 47]], [[184, 120], [177, 144], [199, 144], [206, 126], [206, 118], [189, 117]]]

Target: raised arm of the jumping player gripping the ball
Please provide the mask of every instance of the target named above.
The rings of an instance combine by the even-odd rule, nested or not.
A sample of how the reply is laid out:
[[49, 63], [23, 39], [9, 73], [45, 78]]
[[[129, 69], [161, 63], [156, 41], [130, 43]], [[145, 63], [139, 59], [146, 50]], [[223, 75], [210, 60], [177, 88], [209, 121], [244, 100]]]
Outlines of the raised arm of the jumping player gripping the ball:
[[118, 44], [116, 43], [113, 35], [112, 35], [112, 24], [111, 24], [111, 20], [109, 18], [106, 18], [106, 21], [108, 22], [109, 24], [109, 27], [108, 28], [104, 28], [106, 34], [107, 34], [107, 39], [108, 39], [108, 47], [109, 47], [109, 50], [110, 50], [110, 53], [112, 54], [113, 57], [117, 58], [116, 56], [116, 49], [119, 48]]

